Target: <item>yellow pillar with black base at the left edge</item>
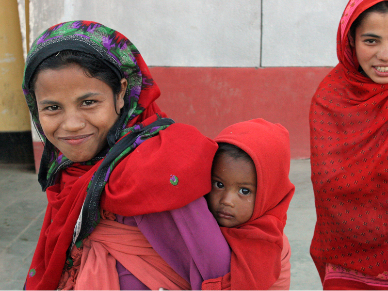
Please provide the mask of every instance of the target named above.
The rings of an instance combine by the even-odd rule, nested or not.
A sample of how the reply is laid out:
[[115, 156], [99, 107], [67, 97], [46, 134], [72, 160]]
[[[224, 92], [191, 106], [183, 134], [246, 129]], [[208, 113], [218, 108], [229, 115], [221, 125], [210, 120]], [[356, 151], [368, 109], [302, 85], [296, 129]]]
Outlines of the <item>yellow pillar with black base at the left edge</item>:
[[[31, 142], [20, 145], [31, 136], [31, 125], [21, 89], [24, 59], [17, 1], [0, 0], [0, 7], [0, 162], [31, 162]], [[26, 154], [30, 161], [20, 161]]]

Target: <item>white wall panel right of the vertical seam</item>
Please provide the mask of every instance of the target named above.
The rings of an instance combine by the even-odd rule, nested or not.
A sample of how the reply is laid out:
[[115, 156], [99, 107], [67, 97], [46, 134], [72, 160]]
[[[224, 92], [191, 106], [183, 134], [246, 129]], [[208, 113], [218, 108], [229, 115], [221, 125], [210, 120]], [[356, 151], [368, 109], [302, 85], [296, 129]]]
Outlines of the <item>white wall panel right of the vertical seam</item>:
[[261, 65], [334, 66], [348, 0], [263, 0]]

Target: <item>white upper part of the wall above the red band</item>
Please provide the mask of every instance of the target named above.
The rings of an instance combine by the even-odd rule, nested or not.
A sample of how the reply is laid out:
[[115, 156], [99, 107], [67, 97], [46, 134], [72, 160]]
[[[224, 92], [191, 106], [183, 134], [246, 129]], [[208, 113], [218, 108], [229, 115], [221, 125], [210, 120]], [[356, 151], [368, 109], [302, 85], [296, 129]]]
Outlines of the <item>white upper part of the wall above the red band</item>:
[[85, 19], [126, 35], [150, 66], [333, 66], [346, 3], [30, 0], [30, 36], [33, 40], [59, 22]]

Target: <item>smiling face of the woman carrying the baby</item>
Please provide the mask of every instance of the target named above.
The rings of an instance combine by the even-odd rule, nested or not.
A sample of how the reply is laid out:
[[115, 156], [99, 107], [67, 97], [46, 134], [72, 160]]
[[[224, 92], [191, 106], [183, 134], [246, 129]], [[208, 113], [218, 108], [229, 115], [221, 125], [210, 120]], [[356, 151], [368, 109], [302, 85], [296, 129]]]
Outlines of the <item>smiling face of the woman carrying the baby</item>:
[[68, 65], [39, 72], [34, 88], [47, 139], [69, 160], [86, 162], [107, 145], [108, 132], [124, 106], [127, 80], [121, 80], [114, 97], [105, 82], [85, 76], [79, 65]]

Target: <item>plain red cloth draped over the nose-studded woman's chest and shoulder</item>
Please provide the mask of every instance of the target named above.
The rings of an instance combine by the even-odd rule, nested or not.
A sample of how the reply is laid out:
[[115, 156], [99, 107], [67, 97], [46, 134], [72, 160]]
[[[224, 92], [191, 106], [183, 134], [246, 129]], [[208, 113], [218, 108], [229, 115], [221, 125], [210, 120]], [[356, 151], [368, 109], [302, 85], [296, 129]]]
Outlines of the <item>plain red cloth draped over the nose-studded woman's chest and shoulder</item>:
[[[210, 192], [216, 149], [214, 142], [192, 126], [169, 126], [116, 166], [101, 197], [101, 208], [132, 216], [187, 205]], [[28, 289], [57, 288], [87, 186], [99, 164], [70, 167], [62, 175], [65, 184], [47, 189], [49, 205], [32, 259]], [[76, 178], [71, 173], [74, 171]], [[178, 178], [177, 185], [171, 183], [172, 175]]]

